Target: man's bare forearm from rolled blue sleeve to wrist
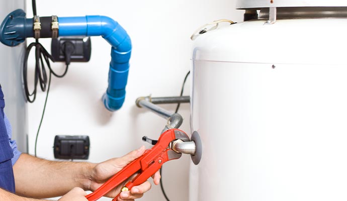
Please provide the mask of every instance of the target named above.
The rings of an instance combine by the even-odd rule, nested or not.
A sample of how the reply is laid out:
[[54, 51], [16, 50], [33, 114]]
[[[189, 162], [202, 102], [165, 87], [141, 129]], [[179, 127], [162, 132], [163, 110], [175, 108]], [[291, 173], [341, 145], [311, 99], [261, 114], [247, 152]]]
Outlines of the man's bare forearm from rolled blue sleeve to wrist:
[[16, 194], [46, 198], [63, 195], [73, 187], [89, 190], [89, 176], [94, 166], [92, 163], [48, 161], [22, 154], [14, 165]]

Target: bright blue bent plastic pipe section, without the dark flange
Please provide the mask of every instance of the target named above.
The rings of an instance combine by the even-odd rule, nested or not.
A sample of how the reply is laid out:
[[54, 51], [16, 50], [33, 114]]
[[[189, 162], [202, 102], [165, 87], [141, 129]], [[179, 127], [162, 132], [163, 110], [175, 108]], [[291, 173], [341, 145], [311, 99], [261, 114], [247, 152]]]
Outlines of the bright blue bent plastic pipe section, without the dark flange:
[[102, 36], [112, 45], [109, 86], [103, 95], [105, 107], [120, 109], [125, 99], [131, 40], [126, 31], [106, 16], [59, 17], [59, 36]]

